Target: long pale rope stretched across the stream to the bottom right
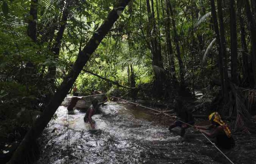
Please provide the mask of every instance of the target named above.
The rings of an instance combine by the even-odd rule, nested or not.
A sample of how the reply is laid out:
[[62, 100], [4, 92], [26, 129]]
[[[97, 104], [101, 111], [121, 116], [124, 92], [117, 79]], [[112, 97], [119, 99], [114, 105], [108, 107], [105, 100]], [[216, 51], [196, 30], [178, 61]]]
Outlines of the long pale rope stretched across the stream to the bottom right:
[[[111, 95], [110, 95], [110, 96], [111, 96]], [[111, 96], [111, 97], [117, 98], [117, 97], [115, 97], [115, 96]], [[156, 110], [156, 109], [153, 109], [153, 108], [150, 108], [150, 107], [146, 107], [146, 106], [140, 105], [140, 104], [138, 104], [138, 103], [130, 102], [130, 101], [124, 100], [124, 99], [122, 99], [122, 98], [117, 98], [117, 99], [122, 100], [122, 101], [125, 101], [125, 102], [128, 102], [128, 103], [132, 103], [132, 104], [134, 104], [134, 105], [138, 105], [138, 106], [141, 106], [141, 107], [144, 107], [144, 108], [147, 108], [147, 109], [150, 109], [150, 110], [152, 110], [152, 111], [156, 111], [156, 112], [162, 113], [162, 114], [167, 115], [167, 116], [169, 116], [169, 117], [173, 117], [173, 116], [168, 115], [168, 114], [166, 114], [166, 113], [164, 113], [164, 112], [162, 112], [162, 111], [159, 111], [159, 110]], [[188, 125], [188, 126], [190, 126], [190, 127], [194, 127], [193, 125], [190, 125], [190, 124], [188, 124], [188, 123], [185, 123], [184, 121], [181, 121], [180, 119], [177, 119], [177, 120], [180, 121], [180, 122], [182, 122], [182, 123], [184, 123], [184, 124], [186, 124], [186, 125]], [[202, 133], [202, 132], [201, 132], [201, 133]], [[205, 137], [208, 141], [210, 141], [210, 143], [211, 143], [223, 156], [225, 156], [225, 157], [229, 160], [230, 163], [234, 164], [234, 162], [232, 162], [232, 160], [230, 160], [230, 159], [224, 154], [224, 152], [222, 152], [222, 151], [216, 146], [216, 144], [213, 143], [204, 133], [202, 133], [202, 135], [204, 135], [204, 137]]]

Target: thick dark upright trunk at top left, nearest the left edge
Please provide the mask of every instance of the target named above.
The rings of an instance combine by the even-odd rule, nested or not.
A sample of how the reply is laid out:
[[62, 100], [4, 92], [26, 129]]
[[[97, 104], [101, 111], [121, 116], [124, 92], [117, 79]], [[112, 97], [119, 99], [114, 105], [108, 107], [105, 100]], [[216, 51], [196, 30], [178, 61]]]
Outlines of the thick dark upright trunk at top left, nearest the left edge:
[[36, 42], [36, 21], [37, 21], [38, 0], [31, 0], [30, 17], [28, 19], [28, 36]]

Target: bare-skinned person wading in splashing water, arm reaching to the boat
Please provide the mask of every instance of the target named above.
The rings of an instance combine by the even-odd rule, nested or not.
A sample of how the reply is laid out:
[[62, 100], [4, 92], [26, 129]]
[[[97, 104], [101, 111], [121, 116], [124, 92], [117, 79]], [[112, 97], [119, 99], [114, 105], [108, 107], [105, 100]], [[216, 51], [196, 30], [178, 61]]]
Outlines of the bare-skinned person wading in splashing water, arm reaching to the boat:
[[92, 129], [95, 129], [95, 121], [92, 120], [92, 116], [94, 114], [100, 113], [100, 105], [107, 102], [108, 100], [105, 100], [104, 102], [98, 103], [97, 99], [92, 100], [92, 105], [89, 107], [89, 109], [86, 111], [86, 114], [84, 116], [84, 122], [89, 122]]

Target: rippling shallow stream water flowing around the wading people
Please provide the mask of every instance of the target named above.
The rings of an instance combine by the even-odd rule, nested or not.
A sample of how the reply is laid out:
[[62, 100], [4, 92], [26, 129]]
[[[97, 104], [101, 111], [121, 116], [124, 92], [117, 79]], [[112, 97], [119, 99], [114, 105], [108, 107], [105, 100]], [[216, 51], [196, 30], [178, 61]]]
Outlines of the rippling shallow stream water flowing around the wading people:
[[[228, 164], [194, 129], [184, 138], [155, 120], [147, 110], [127, 103], [108, 102], [94, 115], [96, 129], [84, 123], [84, 113], [68, 114], [64, 106], [42, 135], [37, 164]], [[256, 163], [256, 137], [234, 136], [236, 147], [223, 150], [236, 164]]]

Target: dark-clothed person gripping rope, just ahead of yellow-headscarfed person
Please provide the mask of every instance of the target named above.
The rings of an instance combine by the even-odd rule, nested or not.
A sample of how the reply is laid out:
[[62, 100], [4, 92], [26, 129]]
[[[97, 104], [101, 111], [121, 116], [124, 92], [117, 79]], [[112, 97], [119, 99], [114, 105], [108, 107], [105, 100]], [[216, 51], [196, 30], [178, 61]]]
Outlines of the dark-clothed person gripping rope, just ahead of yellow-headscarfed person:
[[174, 116], [177, 120], [174, 121], [169, 127], [169, 131], [171, 131], [174, 127], [180, 127], [180, 136], [184, 137], [186, 133], [186, 129], [188, 129], [189, 125], [194, 125], [194, 117], [192, 113], [187, 109], [184, 109], [182, 105], [182, 101], [178, 98], [174, 100], [175, 111], [177, 113], [177, 117]]

